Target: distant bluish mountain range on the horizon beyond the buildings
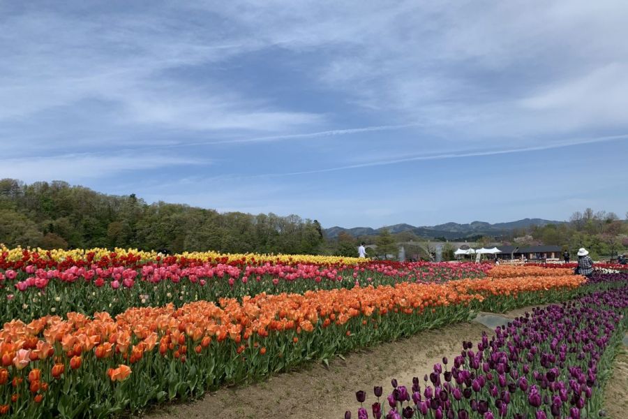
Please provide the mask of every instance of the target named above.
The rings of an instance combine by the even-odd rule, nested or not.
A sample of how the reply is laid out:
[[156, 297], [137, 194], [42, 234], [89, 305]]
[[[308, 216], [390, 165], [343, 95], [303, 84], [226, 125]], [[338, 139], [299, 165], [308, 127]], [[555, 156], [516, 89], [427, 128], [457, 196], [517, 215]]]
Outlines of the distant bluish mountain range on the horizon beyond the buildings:
[[[403, 233], [409, 231], [419, 237], [435, 238], [444, 237], [447, 240], [464, 239], [465, 237], [473, 237], [477, 235], [489, 235], [493, 237], [499, 237], [501, 235], [507, 235], [515, 228], [528, 228], [530, 226], [546, 226], [547, 224], [560, 224], [565, 221], [550, 221], [544, 219], [523, 219], [518, 221], [511, 221], [509, 223], [486, 223], [484, 221], [473, 221], [469, 224], [458, 223], [444, 223], [438, 226], [421, 226], [415, 227], [410, 224], [395, 224], [394, 226], [385, 226], [382, 228], [388, 228], [391, 233]], [[343, 228], [343, 227], [331, 227], [325, 228], [324, 232], [327, 237], [335, 238], [341, 232], [352, 235], [353, 237], [365, 236], [365, 235], [377, 235], [382, 228], [370, 228], [370, 227], [355, 227], [355, 228]]]

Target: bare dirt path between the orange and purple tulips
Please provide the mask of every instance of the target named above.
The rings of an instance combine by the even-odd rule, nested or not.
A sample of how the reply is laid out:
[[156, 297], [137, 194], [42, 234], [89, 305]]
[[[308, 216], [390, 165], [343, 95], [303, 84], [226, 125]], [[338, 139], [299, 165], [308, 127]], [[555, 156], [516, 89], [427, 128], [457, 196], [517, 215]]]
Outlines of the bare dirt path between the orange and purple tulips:
[[491, 332], [478, 323], [463, 323], [423, 332], [410, 339], [380, 344], [369, 351], [336, 358], [329, 369], [309, 365], [299, 372], [273, 376], [264, 383], [225, 388], [208, 393], [188, 404], [158, 407], [147, 414], [151, 419], [193, 418], [299, 418], [338, 419], [345, 410], [356, 410], [357, 390], [365, 390], [367, 402], [375, 401], [373, 386], [390, 381], [412, 385], [412, 376], [431, 372], [442, 356], [453, 359], [462, 341], [477, 341], [482, 332]]

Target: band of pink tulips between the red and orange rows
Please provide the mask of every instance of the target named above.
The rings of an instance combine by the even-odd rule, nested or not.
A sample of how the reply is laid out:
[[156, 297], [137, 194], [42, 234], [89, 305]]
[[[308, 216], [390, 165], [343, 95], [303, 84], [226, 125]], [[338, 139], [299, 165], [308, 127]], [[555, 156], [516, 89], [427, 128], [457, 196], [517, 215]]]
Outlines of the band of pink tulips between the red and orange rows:
[[259, 293], [304, 293], [354, 286], [379, 286], [398, 282], [444, 282], [484, 277], [488, 267], [470, 263], [387, 263], [315, 265], [281, 263], [235, 266], [225, 263], [142, 267], [73, 265], [49, 269], [26, 265], [20, 270], [0, 270], [0, 321], [29, 321], [47, 314], [70, 311], [113, 316], [129, 307], [181, 307], [187, 302], [218, 301]]

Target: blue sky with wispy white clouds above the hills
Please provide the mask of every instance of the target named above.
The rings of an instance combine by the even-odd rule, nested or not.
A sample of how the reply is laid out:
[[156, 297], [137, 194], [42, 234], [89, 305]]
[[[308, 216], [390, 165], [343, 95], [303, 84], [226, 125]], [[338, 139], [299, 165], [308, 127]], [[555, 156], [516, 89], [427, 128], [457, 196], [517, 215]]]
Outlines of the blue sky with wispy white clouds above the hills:
[[326, 227], [623, 216], [625, 22], [625, 1], [3, 1], [0, 177]]

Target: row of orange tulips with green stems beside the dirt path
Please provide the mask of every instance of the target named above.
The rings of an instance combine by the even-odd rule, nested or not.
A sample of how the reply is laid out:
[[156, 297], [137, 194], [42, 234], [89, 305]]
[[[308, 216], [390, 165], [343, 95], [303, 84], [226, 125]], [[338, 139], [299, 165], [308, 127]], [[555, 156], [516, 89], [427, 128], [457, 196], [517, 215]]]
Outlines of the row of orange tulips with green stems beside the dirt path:
[[481, 281], [493, 282], [494, 292], [475, 289], [473, 281], [405, 282], [262, 293], [179, 309], [137, 307], [116, 318], [101, 312], [11, 321], [0, 330], [0, 414], [74, 418], [134, 411], [465, 321], [485, 293], [521, 305], [529, 304], [516, 300], [523, 295], [536, 302], [568, 298], [584, 278]]

